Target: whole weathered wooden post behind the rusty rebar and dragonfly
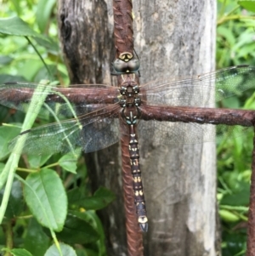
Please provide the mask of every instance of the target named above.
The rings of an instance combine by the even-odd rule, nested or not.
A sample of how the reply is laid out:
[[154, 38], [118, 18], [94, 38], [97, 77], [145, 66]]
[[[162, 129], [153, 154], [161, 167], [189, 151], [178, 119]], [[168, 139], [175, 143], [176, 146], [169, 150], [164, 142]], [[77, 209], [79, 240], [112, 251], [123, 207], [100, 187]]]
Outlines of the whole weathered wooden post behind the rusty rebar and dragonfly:
[[[134, 47], [141, 61], [141, 84], [213, 71], [215, 12], [212, 0], [134, 1]], [[111, 0], [59, 0], [59, 36], [71, 83], [113, 83]], [[149, 216], [144, 255], [218, 255], [214, 145], [169, 147], [149, 139], [139, 134]], [[105, 185], [117, 196], [99, 213], [108, 253], [127, 255], [120, 151], [114, 145], [88, 154], [86, 160], [93, 189]]]

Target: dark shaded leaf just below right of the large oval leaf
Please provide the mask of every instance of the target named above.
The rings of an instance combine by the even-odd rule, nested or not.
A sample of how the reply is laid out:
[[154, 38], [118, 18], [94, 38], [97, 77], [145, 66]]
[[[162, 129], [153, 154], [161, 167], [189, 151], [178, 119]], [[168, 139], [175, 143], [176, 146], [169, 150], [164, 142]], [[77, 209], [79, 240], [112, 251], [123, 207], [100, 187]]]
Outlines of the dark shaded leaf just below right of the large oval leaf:
[[[99, 233], [87, 220], [88, 218], [85, 216], [87, 213], [79, 213], [79, 216], [73, 214], [75, 213], [73, 211], [71, 213], [66, 216], [63, 230], [57, 233], [58, 239], [71, 244], [98, 241]], [[81, 215], [84, 215], [83, 218], [81, 218]]]

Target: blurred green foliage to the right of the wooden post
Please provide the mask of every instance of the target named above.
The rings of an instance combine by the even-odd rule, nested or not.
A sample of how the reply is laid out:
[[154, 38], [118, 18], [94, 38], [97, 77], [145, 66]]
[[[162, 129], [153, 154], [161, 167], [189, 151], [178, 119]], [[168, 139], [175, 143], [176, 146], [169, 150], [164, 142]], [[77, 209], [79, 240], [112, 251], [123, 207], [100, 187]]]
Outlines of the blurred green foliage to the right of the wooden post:
[[[254, 12], [253, 1], [218, 1], [217, 68], [255, 65]], [[254, 109], [253, 102], [253, 91], [246, 91], [226, 100], [223, 106]], [[218, 145], [218, 202], [224, 256], [246, 252], [252, 137], [253, 133], [247, 132]]]

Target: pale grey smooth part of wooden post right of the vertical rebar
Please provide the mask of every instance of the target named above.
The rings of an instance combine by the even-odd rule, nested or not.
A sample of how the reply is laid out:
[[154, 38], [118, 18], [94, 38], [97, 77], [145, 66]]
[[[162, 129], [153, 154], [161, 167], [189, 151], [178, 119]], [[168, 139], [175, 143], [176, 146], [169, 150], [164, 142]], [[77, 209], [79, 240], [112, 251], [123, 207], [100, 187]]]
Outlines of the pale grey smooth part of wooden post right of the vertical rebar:
[[[214, 70], [215, 1], [134, 1], [133, 10], [141, 84]], [[144, 255], [216, 255], [215, 145], [139, 138], [149, 217]]]

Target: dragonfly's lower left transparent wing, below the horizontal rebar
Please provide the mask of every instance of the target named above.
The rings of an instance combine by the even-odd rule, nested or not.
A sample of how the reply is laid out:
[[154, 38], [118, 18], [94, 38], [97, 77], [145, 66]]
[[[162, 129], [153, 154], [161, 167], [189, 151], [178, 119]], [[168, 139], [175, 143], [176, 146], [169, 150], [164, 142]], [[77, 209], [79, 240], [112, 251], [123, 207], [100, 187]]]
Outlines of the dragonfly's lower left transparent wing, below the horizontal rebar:
[[[32, 155], [69, 152], [77, 148], [87, 153], [98, 151], [118, 141], [119, 121], [116, 117], [119, 109], [118, 104], [108, 105], [78, 119], [32, 128], [13, 139], [9, 145], [10, 150]], [[17, 146], [20, 140], [24, 143], [22, 148]]]

